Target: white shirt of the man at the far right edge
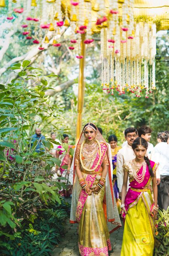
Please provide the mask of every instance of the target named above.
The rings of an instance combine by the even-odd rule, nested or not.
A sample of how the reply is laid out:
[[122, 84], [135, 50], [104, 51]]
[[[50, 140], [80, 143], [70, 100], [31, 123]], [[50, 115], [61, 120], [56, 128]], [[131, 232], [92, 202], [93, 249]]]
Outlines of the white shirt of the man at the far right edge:
[[154, 147], [151, 161], [159, 163], [158, 171], [160, 175], [169, 175], [169, 144], [167, 142], [159, 142]]

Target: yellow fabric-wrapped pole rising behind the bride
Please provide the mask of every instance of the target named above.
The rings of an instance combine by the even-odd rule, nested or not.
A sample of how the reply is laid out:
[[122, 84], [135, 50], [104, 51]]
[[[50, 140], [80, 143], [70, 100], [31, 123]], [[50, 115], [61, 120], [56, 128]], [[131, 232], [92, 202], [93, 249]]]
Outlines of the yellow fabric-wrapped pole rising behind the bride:
[[86, 47], [84, 44], [85, 34], [81, 34], [81, 55], [83, 56], [80, 59], [79, 63], [79, 77], [78, 77], [78, 99], [77, 99], [77, 124], [76, 124], [76, 144], [78, 139], [80, 138], [81, 132], [81, 113], [83, 111], [83, 104], [84, 104], [84, 64], [85, 64], [85, 51]]

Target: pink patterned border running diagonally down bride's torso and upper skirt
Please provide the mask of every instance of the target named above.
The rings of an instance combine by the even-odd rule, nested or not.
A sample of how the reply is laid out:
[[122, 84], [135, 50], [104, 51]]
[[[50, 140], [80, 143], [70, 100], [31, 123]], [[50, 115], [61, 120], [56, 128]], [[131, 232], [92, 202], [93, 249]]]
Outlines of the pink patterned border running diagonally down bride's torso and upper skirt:
[[[100, 163], [99, 163], [98, 167], [95, 170], [96, 173], [98, 172], [98, 170], [101, 167], [101, 164], [103, 162], [103, 158], [104, 158], [104, 155], [106, 153], [106, 150], [107, 150], [107, 145], [105, 143], [101, 143], [102, 156], [101, 156]], [[94, 161], [91, 169], [95, 168], [95, 166], [97, 165], [98, 159], [99, 159], [99, 154], [97, 153], [97, 156], [95, 158], [95, 161]], [[95, 181], [96, 175], [93, 176], [93, 175], [88, 174], [88, 176], [86, 177], [86, 182], [88, 184], [90, 184], [91, 187], [92, 187], [92, 185]], [[81, 189], [81, 192], [80, 192], [80, 195], [79, 195], [79, 198], [78, 198], [77, 209], [76, 209], [76, 220], [77, 220], [78, 223], [80, 222], [81, 214], [82, 214], [84, 205], [86, 203], [87, 197], [88, 197], [88, 194], [86, 193], [86, 191], [84, 189]]]

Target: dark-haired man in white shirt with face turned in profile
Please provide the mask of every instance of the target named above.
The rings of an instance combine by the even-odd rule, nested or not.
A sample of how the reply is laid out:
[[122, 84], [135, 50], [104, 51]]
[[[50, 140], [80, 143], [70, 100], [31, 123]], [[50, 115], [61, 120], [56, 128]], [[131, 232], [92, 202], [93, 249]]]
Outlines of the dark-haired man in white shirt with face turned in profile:
[[[152, 154], [152, 151], [154, 148], [154, 146], [149, 142], [151, 140], [151, 133], [152, 133], [152, 129], [145, 125], [141, 126], [138, 130], [139, 137], [145, 139], [148, 142], [147, 156], [150, 160], [152, 160], [151, 154]], [[160, 173], [158, 170], [156, 171], [156, 179], [157, 179], [157, 185], [159, 185], [160, 184]]]

